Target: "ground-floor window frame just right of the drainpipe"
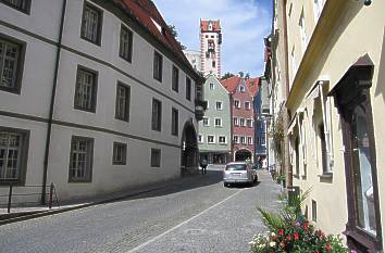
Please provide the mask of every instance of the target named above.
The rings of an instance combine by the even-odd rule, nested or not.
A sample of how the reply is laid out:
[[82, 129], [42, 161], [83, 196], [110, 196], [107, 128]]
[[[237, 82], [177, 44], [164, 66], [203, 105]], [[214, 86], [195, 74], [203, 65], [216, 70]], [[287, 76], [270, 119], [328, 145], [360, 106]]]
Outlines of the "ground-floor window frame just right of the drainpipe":
[[[71, 176], [71, 168], [73, 162], [73, 141], [75, 140], [83, 140], [87, 142], [87, 174], [84, 178], [74, 178]], [[69, 182], [92, 182], [92, 167], [94, 167], [94, 147], [95, 147], [95, 139], [84, 136], [72, 136], [70, 142], [70, 163], [69, 163]], [[78, 170], [78, 169], [77, 169]]]

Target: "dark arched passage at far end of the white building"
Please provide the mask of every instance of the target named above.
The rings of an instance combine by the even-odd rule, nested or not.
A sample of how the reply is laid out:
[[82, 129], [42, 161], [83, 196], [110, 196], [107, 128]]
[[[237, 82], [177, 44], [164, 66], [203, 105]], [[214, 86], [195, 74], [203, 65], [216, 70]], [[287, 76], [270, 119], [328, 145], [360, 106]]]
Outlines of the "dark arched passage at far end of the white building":
[[192, 119], [185, 123], [182, 132], [181, 147], [181, 167], [182, 173], [192, 173], [198, 170], [198, 141], [197, 131], [194, 127]]

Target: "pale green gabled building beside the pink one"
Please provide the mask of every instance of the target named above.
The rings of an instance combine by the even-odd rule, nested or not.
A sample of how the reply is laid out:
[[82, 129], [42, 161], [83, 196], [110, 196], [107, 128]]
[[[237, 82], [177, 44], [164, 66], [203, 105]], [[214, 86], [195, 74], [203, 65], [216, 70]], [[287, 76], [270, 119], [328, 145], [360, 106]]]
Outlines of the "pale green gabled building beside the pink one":
[[214, 74], [207, 76], [203, 90], [208, 106], [203, 121], [199, 122], [200, 159], [210, 164], [225, 164], [231, 159], [232, 144], [229, 96]]

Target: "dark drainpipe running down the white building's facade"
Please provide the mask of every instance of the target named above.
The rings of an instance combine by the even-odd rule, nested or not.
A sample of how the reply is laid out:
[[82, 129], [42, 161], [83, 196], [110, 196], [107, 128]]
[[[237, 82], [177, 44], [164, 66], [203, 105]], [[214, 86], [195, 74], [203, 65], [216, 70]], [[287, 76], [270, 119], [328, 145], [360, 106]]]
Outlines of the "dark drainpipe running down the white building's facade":
[[46, 204], [48, 159], [49, 159], [49, 151], [50, 151], [49, 148], [50, 148], [50, 143], [51, 143], [53, 106], [54, 106], [54, 98], [55, 98], [57, 87], [58, 87], [58, 73], [59, 73], [60, 53], [61, 53], [61, 49], [62, 49], [65, 9], [66, 9], [66, 0], [63, 0], [62, 16], [61, 16], [61, 21], [60, 21], [60, 31], [59, 31], [58, 48], [57, 48], [57, 59], [55, 59], [55, 64], [54, 64], [51, 103], [50, 103], [50, 107], [49, 107], [49, 118], [48, 118], [48, 128], [47, 128], [47, 137], [46, 137], [46, 150], [45, 150], [45, 161], [44, 161], [44, 170], [42, 170], [41, 204]]

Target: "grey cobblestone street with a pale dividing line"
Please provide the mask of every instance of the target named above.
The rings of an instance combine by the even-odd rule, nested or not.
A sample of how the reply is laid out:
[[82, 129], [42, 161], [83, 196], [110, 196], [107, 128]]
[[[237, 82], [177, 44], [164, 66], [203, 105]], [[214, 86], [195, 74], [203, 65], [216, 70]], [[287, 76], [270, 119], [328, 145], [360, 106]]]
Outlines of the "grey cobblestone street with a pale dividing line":
[[2, 226], [0, 252], [248, 252], [263, 231], [257, 205], [278, 206], [266, 172], [224, 188], [221, 170], [119, 202]]

